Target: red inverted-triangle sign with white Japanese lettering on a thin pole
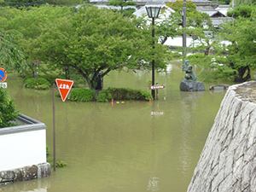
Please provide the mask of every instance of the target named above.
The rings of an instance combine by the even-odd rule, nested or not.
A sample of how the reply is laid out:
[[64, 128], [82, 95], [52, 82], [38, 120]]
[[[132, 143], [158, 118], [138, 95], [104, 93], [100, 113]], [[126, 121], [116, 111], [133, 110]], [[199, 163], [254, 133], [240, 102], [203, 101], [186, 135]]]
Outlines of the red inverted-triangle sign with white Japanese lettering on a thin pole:
[[[61, 94], [62, 102], [65, 102], [67, 96], [73, 86], [72, 80], [55, 79], [58, 90]], [[53, 84], [53, 137], [54, 137], [54, 170], [56, 170], [56, 158], [55, 158], [55, 84]]]

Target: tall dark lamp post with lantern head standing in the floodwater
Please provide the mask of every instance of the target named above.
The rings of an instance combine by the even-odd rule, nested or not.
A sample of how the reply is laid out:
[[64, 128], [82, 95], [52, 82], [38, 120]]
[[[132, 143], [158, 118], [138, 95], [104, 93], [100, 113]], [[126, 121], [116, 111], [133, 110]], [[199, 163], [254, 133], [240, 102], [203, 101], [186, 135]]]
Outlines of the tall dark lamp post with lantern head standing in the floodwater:
[[[157, 18], [160, 14], [162, 4], [156, 4], [156, 3], [147, 3], [146, 4], [146, 10], [148, 13], [148, 17], [152, 18], [152, 38], [153, 38], [153, 49], [154, 49], [154, 18]], [[153, 61], [152, 61], [152, 85], [154, 85], [154, 53], [153, 53]], [[154, 90], [151, 90], [151, 95], [153, 96], [153, 99], [155, 100], [155, 94]]]

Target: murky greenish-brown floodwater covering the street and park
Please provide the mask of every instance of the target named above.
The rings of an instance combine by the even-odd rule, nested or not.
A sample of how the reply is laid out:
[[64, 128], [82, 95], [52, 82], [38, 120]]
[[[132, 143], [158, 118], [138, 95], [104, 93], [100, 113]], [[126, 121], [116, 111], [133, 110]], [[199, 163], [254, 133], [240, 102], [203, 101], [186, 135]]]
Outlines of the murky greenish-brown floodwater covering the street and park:
[[[1, 192], [184, 192], [225, 91], [183, 92], [180, 62], [155, 73], [159, 101], [62, 102], [55, 98], [56, 159], [50, 177], [0, 186]], [[104, 88], [148, 90], [151, 72], [111, 72]], [[53, 156], [52, 90], [29, 90], [13, 74], [9, 94], [21, 113], [47, 125]], [[226, 82], [222, 82], [226, 83]], [[56, 90], [57, 91], [57, 90]], [[26, 155], [26, 154], [24, 154]]]

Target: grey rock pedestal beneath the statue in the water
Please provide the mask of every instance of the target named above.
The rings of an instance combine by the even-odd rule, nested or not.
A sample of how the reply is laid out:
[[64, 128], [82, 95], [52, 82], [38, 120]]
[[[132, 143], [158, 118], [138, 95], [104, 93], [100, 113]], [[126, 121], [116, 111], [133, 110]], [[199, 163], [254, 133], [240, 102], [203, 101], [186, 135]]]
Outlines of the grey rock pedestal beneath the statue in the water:
[[182, 80], [179, 84], [179, 90], [203, 91], [205, 90], [205, 85], [201, 81]]

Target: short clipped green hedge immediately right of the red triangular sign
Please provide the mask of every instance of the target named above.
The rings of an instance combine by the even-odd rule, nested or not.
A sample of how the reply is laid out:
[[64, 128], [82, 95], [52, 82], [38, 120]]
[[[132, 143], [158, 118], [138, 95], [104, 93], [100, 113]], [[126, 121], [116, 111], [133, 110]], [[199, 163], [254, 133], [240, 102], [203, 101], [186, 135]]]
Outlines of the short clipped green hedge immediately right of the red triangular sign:
[[70, 90], [70, 99], [72, 102], [92, 102], [94, 100], [94, 91], [84, 88]]

